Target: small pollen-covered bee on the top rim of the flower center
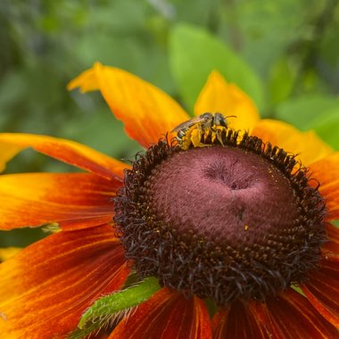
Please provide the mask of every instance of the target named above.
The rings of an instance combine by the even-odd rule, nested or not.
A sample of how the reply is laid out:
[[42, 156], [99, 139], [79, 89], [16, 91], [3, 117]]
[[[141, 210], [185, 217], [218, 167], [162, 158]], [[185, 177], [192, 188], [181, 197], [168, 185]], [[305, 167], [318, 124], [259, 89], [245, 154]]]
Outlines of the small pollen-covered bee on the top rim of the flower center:
[[206, 112], [198, 117], [184, 121], [176, 128], [173, 128], [171, 133], [177, 132], [178, 145], [184, 150], [187, 150], [190, 145], [194, 145], [194, 147], [208, 146], [203, 143], [203, 139], [209, 135], [211, 135], [212, 140], [217, 138], [219, 143], [223, 145], [221, 132], [227, 129], [227, 118], [231, 117], [236, 118], [235, 115], [225, 117], [218, 112]]

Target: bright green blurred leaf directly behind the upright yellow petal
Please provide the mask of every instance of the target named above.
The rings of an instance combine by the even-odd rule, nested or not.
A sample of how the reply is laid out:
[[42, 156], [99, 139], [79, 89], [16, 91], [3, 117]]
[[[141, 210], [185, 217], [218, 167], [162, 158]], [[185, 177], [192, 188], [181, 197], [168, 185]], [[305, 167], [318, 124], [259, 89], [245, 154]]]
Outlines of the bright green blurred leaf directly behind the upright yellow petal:
[[250, 95], [259, 108], [263, 106], [263, 86], [251, 68], [218, 37], [188, 24], [170, 30], [170, 66], [180, 95], [189, 109], [211, 70], [236, 83]]

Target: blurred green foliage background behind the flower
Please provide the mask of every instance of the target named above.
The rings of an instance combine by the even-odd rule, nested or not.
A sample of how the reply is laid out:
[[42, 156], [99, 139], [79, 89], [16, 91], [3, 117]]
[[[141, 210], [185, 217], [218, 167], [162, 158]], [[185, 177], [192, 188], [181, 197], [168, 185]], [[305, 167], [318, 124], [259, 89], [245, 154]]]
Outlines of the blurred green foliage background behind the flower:
[[[77, 140], [119, 159], [139, 150], [98, 93], [66, 85], [96, 61], [131, 71], [192, 112], [209, 72], [262, 117], [314, 129], [339, 150], [336, 0], [2, 0], [0, 131]], [[27, 150], [6, 173], [70, 170]], [[0, 233], [0, 247], [41, 230]]]

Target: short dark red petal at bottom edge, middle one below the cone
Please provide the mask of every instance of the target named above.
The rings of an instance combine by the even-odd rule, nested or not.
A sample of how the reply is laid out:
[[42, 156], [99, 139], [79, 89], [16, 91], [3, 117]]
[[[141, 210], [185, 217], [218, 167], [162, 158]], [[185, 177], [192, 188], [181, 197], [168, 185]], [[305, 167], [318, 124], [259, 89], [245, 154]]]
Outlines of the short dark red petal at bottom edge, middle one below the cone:
[[264, 327], [260, 325], [252, 309], [243, 302], [235, 302], [227, 309], [219, 310], [213, 317], [213, 339], [223, 338], [269, 338]]

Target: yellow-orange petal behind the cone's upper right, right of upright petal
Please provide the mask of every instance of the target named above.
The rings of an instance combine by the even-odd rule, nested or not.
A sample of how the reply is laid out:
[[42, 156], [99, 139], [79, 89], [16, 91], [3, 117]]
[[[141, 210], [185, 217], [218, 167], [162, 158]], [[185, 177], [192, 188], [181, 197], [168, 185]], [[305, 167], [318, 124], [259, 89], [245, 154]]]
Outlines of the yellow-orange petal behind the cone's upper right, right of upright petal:
[[286, 152], [297, 153], [304, 166], [333, 153], [313, 131], [301, 132], [283, 121], [260, 120], [252, 130], [252, 136], [259, 136], [265, 143], [284, 148]]

